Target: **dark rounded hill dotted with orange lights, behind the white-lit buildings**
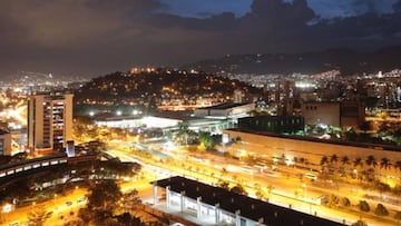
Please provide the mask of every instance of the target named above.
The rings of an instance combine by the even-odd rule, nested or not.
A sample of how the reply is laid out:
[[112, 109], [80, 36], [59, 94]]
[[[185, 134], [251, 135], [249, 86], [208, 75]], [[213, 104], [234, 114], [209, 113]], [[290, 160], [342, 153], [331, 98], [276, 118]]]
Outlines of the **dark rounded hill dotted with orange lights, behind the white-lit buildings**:
[[150, 72], [126, 73], [114, 72], [94, 78], [75, 94], [75, 100], [121, 102], [127, 100], [147, 101], [155, 99], [199, 98], [232, 96], [235, 89], [245, 89], [258, 94], [260, 89], [244, 82], [207, 75], [158, 69]]

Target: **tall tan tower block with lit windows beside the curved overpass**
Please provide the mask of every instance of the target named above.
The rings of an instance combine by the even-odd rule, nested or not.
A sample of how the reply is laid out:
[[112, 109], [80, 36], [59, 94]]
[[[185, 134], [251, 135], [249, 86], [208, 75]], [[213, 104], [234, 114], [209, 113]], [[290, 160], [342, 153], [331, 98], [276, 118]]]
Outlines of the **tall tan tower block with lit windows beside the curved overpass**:
[[72, 94], [32, 95], [28, 101], [28, 148], [67, 147], [72, 139]]

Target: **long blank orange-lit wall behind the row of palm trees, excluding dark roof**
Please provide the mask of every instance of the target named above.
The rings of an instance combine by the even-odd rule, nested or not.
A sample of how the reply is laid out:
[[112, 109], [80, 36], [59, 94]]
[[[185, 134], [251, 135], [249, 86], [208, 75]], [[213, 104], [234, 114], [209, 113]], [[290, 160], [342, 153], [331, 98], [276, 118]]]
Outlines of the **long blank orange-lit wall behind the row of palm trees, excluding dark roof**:
[[[346, 146], [339, 144], [327, 144], [327, 143], [317, 143], [310, 140], [301, 140], [295, 138], [284, 138], [284, 137], [273, 137], [257, 134], [250, 134], [236, 130], [224, 130], [224, 134], [229, 135], [229, 139], [241, 138], [239, 143], [233, 144], [232, 147], [227, 149], [229, 151], [246, 150], [248, 153], [263, 156], [265, 158], [282, 158], [283, 154], [285, 158], [293, 159], [305, 158], [310, 165], [314, 168], [321, 168], [320, 161], [323, 156], [330, 158], [332, 155], [339, 157], [338, 166], [341, 166], [341, 158], [348, 156], [350, 159], [350, 165], [348, 168], [353, 168], [353, 160], [355, 158], [361, 158], [362, 161], [366, 159], [368, 156], [374, 156], [378, 166], [376, 171], [380, 171], [382, 175], [399, 177], [400, 171], [391, 167], [390, 169], [380, 169], [380, 160], [382, 158], [390, 159], [391, 164], [394, 165], [395, 161], [401, 160], [401, 151], [397, 150], [387, 150], [380, 148], [366, 148], [358, 146]], [[366, 166], [365, 166], [366, 167]], [[379, 170], [380, 169], [380, 170]]]

